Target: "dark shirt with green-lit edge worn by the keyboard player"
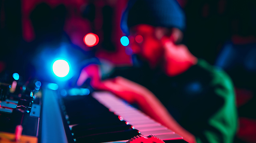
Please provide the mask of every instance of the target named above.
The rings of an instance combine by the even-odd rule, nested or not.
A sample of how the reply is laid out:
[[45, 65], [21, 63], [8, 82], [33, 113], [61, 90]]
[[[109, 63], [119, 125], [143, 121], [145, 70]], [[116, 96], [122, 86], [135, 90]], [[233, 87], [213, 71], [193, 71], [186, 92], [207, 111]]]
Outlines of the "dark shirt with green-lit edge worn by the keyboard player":
[[113, 75], [152, 91], [198, 143], [233, 142], [237, 110], [233, 83], [224, 71], [199, 59], [195, 66], [175, 77], [159, 69], [150, 70], [147, 65], [119, 68]]

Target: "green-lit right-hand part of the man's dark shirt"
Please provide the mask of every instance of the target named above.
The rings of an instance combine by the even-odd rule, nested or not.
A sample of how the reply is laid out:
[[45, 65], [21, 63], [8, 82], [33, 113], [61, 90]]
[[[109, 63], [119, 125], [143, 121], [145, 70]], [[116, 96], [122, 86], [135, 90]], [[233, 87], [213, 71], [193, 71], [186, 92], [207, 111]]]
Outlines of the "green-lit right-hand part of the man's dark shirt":
[[206, 120], [206, 125], [201, 131], [203, 136], [196, 136], [197, 143], [231, 143], [237, 129], [237, 110], [233, 83], [224, 71], [216, 70], [211, 86], [211, 94], [213, 94], [213, 97], [221, 99], [222, 104], [219, 104], [218, 110]]

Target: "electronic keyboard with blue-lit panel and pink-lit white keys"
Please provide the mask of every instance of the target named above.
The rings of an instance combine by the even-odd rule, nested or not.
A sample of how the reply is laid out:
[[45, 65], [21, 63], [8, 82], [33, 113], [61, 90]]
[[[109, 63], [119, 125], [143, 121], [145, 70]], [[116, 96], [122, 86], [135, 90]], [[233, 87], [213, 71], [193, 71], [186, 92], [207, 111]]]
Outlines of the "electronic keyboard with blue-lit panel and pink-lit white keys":
[[[63, 92], [67, 94], [60, 94]], [[69, 95], [68, 90], [46, 89], [43, 93], [42, 142], [121, 143], [138, 135], [154, 135], [164, 142], [185, 142], [182, 136], [109, 92]], [[54, 107], [49, 107], [47, 102], [51, 106], [55, 104]], [[46, 121], [45, 114], [48, 114], [51, 121]], [[55, 120], [56, 117], [58, 120]], [[51, 125], [44, 126], [44, 122], [50, 122]], [[56, 125], [59, 129], [53, 128]]]

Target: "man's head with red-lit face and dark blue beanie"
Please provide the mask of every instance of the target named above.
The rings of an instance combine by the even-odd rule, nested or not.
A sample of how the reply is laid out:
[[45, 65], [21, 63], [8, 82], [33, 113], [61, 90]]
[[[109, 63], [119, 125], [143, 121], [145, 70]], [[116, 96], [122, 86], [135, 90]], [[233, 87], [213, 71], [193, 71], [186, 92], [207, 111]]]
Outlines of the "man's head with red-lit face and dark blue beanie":
[[159, 63], [163, 37], [181, 41], [185, 15], [176, 0], [130, 0], [124, 11], [121, 29], [129, 35], [134, 54], [153, 64]]

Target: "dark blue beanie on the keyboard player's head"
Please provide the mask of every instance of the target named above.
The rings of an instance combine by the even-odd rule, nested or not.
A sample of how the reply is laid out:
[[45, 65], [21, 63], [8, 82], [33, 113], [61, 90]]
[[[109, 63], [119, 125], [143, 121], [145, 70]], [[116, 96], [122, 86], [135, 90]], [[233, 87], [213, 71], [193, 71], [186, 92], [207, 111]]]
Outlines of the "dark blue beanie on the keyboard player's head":
[[121, 19], [122, 31], [137, 24], [185, 29], [185, 14], [176, 0], [129, 0]]

